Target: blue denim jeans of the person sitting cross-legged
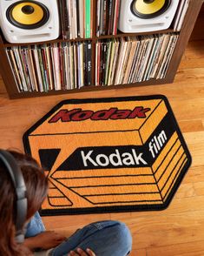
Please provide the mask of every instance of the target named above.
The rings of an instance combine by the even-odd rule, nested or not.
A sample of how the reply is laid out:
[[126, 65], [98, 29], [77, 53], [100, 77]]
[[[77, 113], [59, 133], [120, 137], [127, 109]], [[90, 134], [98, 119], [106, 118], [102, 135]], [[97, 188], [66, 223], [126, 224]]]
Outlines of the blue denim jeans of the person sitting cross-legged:
[[[36, 212], [27, 226], [25, 237], [36, 236], [43, 232], [44, 226], [41, 217]], [[131, 251], [132, 237], [128, 227], [119, 221], [100, 221], [84, 226], [72, 236], [56, 246], [49, 255], [67, 256], [70, 251], [80, 247], [83, 250], [90, 248], [96, 256], [126, 256]]]

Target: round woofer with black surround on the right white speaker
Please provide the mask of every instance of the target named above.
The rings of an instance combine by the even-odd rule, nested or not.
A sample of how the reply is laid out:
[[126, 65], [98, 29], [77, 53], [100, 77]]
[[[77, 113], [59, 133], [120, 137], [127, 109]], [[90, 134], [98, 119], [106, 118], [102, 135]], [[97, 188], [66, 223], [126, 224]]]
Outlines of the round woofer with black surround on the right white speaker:
[[166, 10], [171, 0], [134, 0], [131, 3], [132, 13], [144, 19], [158, 17]]

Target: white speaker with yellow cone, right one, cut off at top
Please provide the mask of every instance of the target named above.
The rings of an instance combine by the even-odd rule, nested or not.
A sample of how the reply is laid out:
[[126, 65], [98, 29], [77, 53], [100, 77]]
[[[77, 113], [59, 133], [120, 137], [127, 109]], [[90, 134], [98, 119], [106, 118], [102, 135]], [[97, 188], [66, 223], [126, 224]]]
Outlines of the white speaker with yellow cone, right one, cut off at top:
[[121, 2], [118, 29], [124, 33], [167, 30], [179, 0], [127, 0]]

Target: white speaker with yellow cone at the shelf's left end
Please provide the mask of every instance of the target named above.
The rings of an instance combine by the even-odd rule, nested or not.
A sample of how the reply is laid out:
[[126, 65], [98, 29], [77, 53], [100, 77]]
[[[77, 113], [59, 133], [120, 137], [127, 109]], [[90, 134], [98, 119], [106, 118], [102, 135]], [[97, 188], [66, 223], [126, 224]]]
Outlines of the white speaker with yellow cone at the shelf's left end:
[[57, 0], [1, 0], [0, 26], [10, 43], [54, 40], [59, 37]]

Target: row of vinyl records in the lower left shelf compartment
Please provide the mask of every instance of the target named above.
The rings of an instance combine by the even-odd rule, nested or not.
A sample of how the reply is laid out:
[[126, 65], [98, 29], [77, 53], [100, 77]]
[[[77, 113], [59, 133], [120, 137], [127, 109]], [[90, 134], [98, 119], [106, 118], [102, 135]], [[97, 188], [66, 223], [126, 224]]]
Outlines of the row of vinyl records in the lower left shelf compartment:
[[19, 92], [58, 91], [91, 84], [90, 41], [8, 47]]

